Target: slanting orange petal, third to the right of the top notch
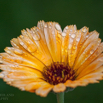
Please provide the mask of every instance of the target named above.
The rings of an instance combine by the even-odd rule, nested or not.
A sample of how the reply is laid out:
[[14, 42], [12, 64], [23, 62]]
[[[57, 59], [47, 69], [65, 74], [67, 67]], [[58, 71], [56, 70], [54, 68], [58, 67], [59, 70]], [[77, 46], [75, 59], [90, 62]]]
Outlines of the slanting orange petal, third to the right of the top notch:
[[[90, 35], [90, 34], [88, 34]], [[77, 55], [76, 61], [75, 61], [75, 65], [74, 65], [74, 70], [77, 70], [81, 64], [85, 61], [85, 59], [87, 59], [86, 56], [88, 56], [88, 53], [90, 54], [90, 50], [96, 49], [98, 47], [98, 45], [95, 44], [99, 44], [100, 43], [100, 39], [98, 39], [99, 34], [94, 31], [91, 32], [91, 35], [88, 37], [88, 39], [84, 42], [84, 44], [82, 45], [79, 54]]]

